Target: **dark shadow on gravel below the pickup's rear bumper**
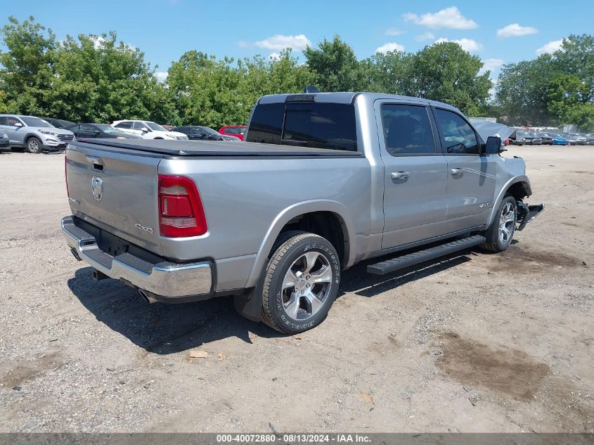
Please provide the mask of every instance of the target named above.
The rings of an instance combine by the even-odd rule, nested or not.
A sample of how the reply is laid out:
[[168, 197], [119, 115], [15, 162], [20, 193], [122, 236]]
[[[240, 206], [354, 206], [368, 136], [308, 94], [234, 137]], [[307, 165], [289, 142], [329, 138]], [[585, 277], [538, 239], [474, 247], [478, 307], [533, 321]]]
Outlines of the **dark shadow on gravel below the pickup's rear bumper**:
[[227, 337], [252, 343], [250, 335], [281, 337], [264, 323], [249, 321], [233, 306], [233, 298], [203, 302], [148, 304], [138, 291], [117, 280], [95, 281], [84, 267], [68, 280], [68, 287], [86, 309], [108, 328], [155, 354], [174, 354]]

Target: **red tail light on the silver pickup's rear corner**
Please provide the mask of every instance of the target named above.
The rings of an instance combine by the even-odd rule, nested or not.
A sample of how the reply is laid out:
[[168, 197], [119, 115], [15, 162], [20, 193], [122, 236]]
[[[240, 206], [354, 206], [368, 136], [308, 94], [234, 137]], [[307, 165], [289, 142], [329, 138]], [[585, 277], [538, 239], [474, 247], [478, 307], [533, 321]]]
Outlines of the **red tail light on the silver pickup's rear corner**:
[[204, 235], [206, 217], [196, 184], [184, 176], [159, 175], [161, 236], [182, 238]]

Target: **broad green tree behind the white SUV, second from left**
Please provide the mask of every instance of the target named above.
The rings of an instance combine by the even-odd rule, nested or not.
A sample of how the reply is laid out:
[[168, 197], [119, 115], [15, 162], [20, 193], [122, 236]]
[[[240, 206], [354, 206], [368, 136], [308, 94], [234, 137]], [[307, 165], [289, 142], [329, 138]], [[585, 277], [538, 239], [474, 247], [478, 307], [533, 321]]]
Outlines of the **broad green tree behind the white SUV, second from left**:
[[56, 49], [56, 78], [47, 112], [76, 122], [155, 119], [175, 122], [176, 111], [144, 54], [117, 43], [117, 34], [67, 36]]

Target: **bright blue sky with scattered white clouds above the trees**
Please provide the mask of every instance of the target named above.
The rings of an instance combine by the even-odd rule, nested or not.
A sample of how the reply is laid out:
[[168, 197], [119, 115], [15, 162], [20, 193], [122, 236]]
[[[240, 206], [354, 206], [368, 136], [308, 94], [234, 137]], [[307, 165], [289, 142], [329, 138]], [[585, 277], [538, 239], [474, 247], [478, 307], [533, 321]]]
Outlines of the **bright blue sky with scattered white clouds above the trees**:
[[555, 51], [569, 34], [592, 34], [594, 1], [383, 1], [383, 0], [19, 0], [2, 1], [0, 26], [30, 15], [67, 34], [117, 32], [136, 46], [161, 79], [172, 61], [191, 49], [219, 58], [274, 57], [290, 46], [335, 34], [356, 56], [376, 51], [418, 51], [435, 41], [458, 41], [496, 78], [503, 63]]

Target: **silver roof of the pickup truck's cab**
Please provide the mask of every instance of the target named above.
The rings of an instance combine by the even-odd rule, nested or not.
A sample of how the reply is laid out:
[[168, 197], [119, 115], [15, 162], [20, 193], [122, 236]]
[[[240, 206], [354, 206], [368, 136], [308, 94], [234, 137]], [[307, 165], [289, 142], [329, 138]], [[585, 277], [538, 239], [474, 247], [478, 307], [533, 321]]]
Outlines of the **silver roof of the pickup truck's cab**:
[[418, 103], [422, 105], [434, 105], [440, 108], [449, 108], [451, 110], [458, 110], [452, 105], [447, 103], [431, 101], [430, 99], [412, 97], [412, 96], [401, 96], [399, 94], [386, 94], [386, 93], [367, 93], [367, 92], [336, 92], [336, 93], [297, 93], [297, 94], [269, 94], [262, 96], [258, 99], [258, 104], [266, 103], [282, 103], [286, 102], [287, 98], [294, 98], [298, 100], [299, 96], [305, 98], [306, 96], [314, 96], [314, 101], [323, 103], [354, 103], [356, 98], [363, 98], [365, 101], [374, 102], [377, 99], [393, 99], [396, 101], [407, 101], [412, 103]]

